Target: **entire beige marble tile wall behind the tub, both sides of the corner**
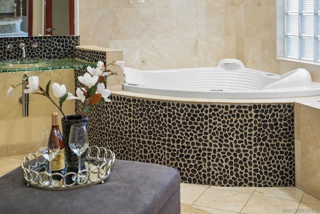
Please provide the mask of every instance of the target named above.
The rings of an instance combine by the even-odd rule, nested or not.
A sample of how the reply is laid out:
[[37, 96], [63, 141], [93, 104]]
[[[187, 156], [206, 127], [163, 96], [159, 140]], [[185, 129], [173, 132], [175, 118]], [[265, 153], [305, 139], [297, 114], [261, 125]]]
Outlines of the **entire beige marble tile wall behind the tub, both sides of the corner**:
[[276, 59], [283, 51], [283, 45], [280, 54], [276, 48], [283, 2], [81, 0], [80, 43], [123, 49], [126, 66], [133, 68], [215, 66], [232, 57], [278, 74], [304, 67], [320, 81], [318, 65]]

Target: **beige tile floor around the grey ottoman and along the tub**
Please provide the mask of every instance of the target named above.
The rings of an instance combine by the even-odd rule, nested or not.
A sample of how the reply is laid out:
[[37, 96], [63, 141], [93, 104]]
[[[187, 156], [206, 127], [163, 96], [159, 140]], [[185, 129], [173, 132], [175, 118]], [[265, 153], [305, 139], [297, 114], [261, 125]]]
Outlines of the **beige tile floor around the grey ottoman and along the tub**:
[[[27, 154], [0, 157], [0, 177]], [[320, 213], [320, 200], [295, 187], [218, 187], [181, 183], [181, 203], [210, 213]]]

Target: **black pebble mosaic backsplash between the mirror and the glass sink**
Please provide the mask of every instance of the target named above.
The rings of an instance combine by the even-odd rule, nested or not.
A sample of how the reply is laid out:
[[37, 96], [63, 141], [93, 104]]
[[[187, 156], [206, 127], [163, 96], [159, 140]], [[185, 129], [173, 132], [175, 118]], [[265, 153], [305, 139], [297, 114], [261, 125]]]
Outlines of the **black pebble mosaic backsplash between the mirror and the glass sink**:
[[[21, 58], [22, 50], [18, 47], [21, 42], [25, 44], [26, 58], [74, 58], [79, 36], [3, 37], [0, 38], [0, 60]], [[35, 43], [37, 47], [32, 47]]]

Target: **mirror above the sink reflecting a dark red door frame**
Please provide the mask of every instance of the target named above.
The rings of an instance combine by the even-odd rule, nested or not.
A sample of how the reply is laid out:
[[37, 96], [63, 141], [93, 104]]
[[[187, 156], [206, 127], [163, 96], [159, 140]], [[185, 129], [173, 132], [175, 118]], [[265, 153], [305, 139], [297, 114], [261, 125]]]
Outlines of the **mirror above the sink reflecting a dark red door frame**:
[[78, 34], [78, 0], [0, 0], [0, 37]]

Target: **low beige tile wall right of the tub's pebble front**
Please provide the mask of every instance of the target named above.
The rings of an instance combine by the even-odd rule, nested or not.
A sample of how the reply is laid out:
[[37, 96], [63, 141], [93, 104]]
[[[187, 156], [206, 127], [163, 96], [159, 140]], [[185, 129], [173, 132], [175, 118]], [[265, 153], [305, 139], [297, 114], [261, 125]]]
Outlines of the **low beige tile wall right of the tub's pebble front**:
[[320, 109], [294, 104], [296, 186], [320, 198]]

